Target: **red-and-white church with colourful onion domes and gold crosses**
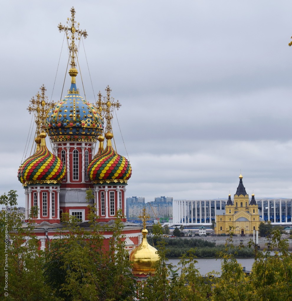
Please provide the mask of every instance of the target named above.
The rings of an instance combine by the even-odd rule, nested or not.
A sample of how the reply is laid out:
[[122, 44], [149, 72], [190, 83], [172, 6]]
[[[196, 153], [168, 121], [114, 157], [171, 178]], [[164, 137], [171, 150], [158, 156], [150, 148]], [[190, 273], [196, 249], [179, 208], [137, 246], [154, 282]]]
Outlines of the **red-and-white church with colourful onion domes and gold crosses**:
[[[35, 153], [18, 169], [18, 179], [26, 196], [24, 227], [29, 221], [31, 209], [37, 206], [38, 212], [32, 217], [41, 249], [63, 227], [61, 217], [64, 213], [75, 216], [80, 226], [88, 231], [90, 206], [95, 206], [97, 221], [103, 224], [110, 225], [118, 210], [125, 216], [125, 192], [132, 173], [130, 162], [112, 145], [112, 112], [120, 107], [120, 103], [111, 97], [111, 89], [109, 86], [106, 88], [103, 98], [99, 93], [95, 104], [84, 99], [79, 92], [75, 40], [86, 38], [87, 32], [79, 29], [74, 8], [71, 9], [67, 26], [60, 23], [58, 28], [71, 40], [71, 85], [68, 94], [56, 103], [48, 101], [44, 86], [36, 98], [32, 98], [28, 110], [35, 115]], [[46, 145], [47, 137], [52, 144], [52, 152]], [[94, 154], [97, 141], [98, 149]], [[88, 200], [89, 189], [94, 197]], [[142, 227], [127, 222], [125, 218], [121, 220], [130, 251], [141, 243]], [[111, 235], [110, 231], [104, 233], [105, 247]]]

